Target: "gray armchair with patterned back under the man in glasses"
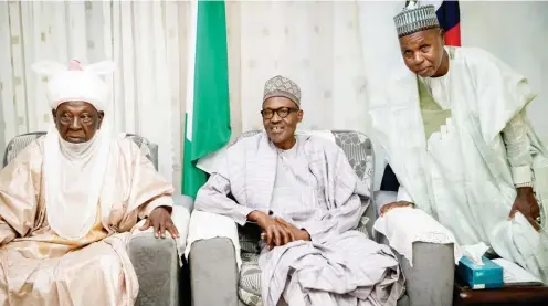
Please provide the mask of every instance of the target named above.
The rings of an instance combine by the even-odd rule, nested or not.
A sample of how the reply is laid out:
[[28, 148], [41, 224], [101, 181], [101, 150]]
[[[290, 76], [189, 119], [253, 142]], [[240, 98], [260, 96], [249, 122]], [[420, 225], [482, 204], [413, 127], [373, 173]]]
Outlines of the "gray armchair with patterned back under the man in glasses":
[[[257, 131], [240, 136], [249, 137]], [[370, 190], [373, 190], [375, 154], [370, 139], [360, 133], [333, 130], [335, 140], [345, 151], [356, 173]], [[386, 243], [383, 236], [375, 236], [372, 224], [377, 219], [376, 197], [380, 201], [391, 201], [394, 194], [375, 193], [371, 199], [362, 199], [369, 204], [365, 212], [360, 231], [369, 238]], [[369, 201], [369, 202], [367, 202]], [[204, 224], [207, 226], [207, 224]], [[236, 225], [234, 225], [234, 231]], [[232, 242], [224, 238], [197, 241], [189, 254], [191, 299], [193, 306], [260, 306], [261, 284], [257, 265], [256, 241], [259, 231], [238, 228], [241, 244], [242, 267], [238, 271]], [[253, 236], [255, 235], [255, 236]], [[407, 292], [398, 302], [399, 306], [450, 306], [453, 298], [454, 261], [453, 245], [415, 243], [413, 266], [399, 256], [407, 279]]]

